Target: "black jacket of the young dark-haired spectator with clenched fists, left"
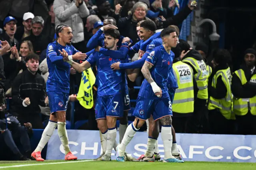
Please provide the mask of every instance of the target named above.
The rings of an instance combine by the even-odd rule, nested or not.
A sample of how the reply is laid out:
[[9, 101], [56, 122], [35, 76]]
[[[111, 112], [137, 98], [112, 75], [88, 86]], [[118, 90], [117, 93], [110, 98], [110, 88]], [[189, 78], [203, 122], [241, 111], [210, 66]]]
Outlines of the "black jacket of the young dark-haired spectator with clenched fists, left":
[[[46, 85], [44, 78], [36, 73], [33, 75], [26, 70], [20, 73], [13, 81], [12, 85], [12, 105], [11, 112], [20, 114], [38, 114], [40, 106], [46, 106], [44, 103], [46, 97]], [[30, 105], [24, 107], [23, 100], [28, 97]]]

